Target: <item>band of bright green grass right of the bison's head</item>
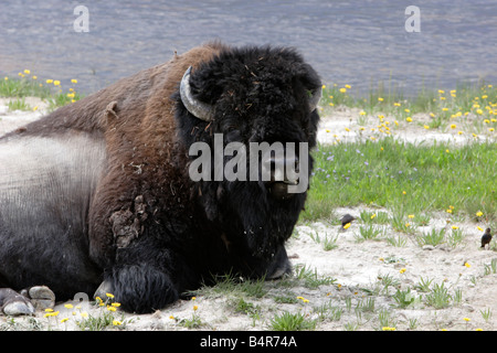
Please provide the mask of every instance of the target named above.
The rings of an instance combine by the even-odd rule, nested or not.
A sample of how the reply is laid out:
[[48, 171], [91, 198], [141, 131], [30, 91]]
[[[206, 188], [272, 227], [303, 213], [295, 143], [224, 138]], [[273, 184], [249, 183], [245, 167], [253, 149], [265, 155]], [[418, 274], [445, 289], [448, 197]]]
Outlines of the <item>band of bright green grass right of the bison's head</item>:
[[[379, 142], [319, 146], [309, 197], [300, 221], [326, 218], [336, 207], [373, 204], [414, 216], [453, 207], [497, 220], [497, 143], [414, 146]], [[366, 217], [366, 216], [364, 216]], [[414, 218], [415, 220], [415, 218]], [[399, 220], [402, 225], [404, 218]]]

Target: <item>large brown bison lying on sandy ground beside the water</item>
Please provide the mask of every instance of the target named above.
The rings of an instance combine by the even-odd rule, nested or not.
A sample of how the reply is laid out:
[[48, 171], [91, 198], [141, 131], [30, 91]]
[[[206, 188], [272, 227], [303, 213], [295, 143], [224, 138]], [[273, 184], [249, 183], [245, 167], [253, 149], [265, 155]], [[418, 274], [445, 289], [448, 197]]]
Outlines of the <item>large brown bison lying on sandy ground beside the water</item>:
[[292, 49], [210, 43], [0, 138], [0, 287], [112, 292], [142, 313], [215, 274], [288, 274], [306, 192], [193, 182], [188, 150], [214, 133], [310, 149], [320, 87]]

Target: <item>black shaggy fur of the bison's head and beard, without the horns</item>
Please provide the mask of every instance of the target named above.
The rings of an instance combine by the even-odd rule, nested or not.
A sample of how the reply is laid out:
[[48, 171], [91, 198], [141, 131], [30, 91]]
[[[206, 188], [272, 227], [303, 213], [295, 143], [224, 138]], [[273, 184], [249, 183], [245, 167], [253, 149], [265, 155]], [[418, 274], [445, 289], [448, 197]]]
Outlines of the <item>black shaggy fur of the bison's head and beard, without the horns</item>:
[[[213, 146], [213, 135], [223, 133], [224, 145], [281, 141], [315, 147], [319, 117], [309, 111], [307, 99], [308, 92], [321, 84], [295, 50], [226, 49], [202, 63], [190, 83], [195, 98], [215, 106], [215, 117], [211, 122], [200, 121], [177, 95], [176, 120], [184, 145], [204, 141]], [[209, 218], [258, 276], [290, 236], [306, 199], [302, 193], [275, 200], [257, 182], [210, 181], [201, 182], [200, 189]]]

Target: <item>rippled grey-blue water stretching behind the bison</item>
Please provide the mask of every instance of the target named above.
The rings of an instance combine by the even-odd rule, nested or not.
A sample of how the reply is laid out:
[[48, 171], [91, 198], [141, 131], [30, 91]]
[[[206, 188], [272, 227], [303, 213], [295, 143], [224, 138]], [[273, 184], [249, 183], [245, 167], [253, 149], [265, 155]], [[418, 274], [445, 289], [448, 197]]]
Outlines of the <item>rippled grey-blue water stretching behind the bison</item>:
[[[78, 4], [89, 32], [74, 31]], [[405, 31], [408, 6], [420, 9], [420, 32]], [[497, 84], [495, 0], [0, 2], [0, 75], [77, 78], [86, 94], [213, 39], [295, 46], [324, 83], [352, 92]]]

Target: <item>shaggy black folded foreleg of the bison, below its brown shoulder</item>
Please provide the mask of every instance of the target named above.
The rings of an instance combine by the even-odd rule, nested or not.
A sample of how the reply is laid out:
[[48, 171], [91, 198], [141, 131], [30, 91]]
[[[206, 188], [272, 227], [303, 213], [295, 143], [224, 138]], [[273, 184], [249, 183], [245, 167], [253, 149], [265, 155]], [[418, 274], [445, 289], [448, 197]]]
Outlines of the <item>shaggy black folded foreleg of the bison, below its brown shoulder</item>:
[[113, 293], [124, 310], [136, 313], [149, 313], [179, 299], [169, 276], [148, 264], [114, 267], [95, 295], [105, 298], [105, 292]]

